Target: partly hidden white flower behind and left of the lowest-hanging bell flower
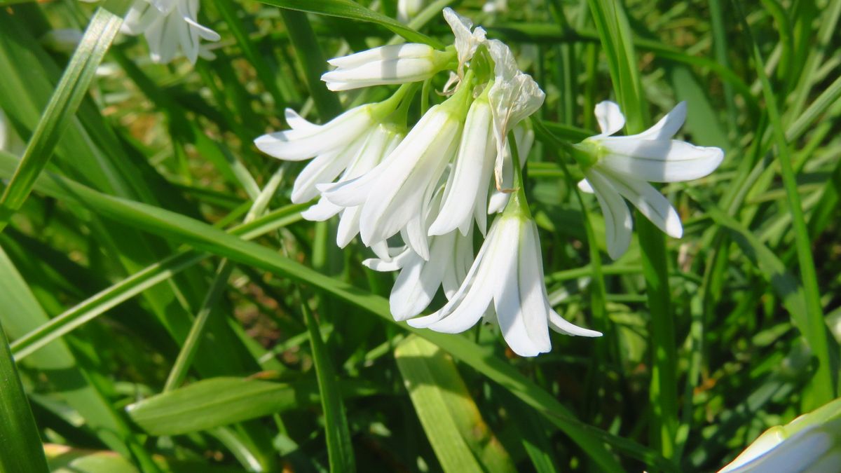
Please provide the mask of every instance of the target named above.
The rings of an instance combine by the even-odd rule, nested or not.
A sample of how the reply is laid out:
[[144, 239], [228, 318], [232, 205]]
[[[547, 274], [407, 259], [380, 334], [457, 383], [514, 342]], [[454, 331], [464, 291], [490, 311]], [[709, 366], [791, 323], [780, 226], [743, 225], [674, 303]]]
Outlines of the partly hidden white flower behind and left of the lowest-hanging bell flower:
[[[430, 209], [426, 213], [425, 226], [428, 226], [441, 205], [442, 192], [436, 193]], [[398, 271], [389, 297], [391, 315], [396, 321], [405, 321], [417, 316], [432, 301], [438, 287], [442, 287], [447, 298], [452, 297], [462, 284], [473, 263], [473, 227], [462, 235], [451, 231], [445, 235], [429, 239], [430, 258], [421, 258], [411, 247], [405, 246], [392, 250], [394, 258], [385, 261], [381, 258], [367, 259], [362, 262], [375, 271]]]

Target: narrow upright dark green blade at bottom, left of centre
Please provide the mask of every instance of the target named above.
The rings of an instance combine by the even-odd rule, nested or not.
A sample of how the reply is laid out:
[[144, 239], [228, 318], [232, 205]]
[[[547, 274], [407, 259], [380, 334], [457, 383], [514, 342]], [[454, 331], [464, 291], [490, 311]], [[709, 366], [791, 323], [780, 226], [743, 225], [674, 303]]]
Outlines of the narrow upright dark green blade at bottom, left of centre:
[[301, 311], [304, 312], [304, 322], [309, 332], [315, 378], [318, 380], [321, 408], [324, 410], [330, 470], [353, 472], [356, 471], [356, 461], [353, 458], [351, 430], [347, 426], [345, 403], [342, 401], [339, 379], [336, 377], [330, 354], [327, 353], [327, 346], [321, 339], [318, 322], [315, 321], [306, 303], [301, 305]]

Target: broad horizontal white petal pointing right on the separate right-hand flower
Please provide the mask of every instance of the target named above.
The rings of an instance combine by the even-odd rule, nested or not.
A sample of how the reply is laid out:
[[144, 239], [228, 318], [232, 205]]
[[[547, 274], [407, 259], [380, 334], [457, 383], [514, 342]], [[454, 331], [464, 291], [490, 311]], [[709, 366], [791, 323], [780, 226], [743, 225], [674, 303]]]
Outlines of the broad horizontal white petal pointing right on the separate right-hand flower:
[[600, 145], [609, 151], [600, 159], [600, 166], [655, 183], [703, 178], [724, 159], [721, 148], [694, 146], [677, 140], [646, 141], [616, 136], [601, 139]]

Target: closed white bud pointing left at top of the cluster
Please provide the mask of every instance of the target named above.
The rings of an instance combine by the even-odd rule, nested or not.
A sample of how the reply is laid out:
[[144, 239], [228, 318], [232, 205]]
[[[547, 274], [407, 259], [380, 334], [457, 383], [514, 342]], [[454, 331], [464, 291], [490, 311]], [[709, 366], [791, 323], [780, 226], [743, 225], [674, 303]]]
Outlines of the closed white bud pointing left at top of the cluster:
[[418, 82], [434, 76], [451, 59], [452, 52], [435, 50], [430, 45], [380, 46], [327, 61], [336, 69], [325, 72], [321, 80], [332, 91]]

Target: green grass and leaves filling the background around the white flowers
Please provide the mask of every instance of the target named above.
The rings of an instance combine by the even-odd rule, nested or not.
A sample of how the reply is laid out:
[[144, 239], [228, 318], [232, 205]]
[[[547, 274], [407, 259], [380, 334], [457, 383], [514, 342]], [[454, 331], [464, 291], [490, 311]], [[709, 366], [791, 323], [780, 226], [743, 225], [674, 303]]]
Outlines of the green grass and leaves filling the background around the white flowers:
[[[449, 43], [447, 5], [547, 92], [547, 287], [605, 337], [521, 359], [495, 327], [392, 322], [392, 275], [302, 221], [299, 165], [251, 144], [285, 107], [383, 97], [327, 92], [324, 58]], [[43, 442], [74, 471], [706, 471], [836, 396], [841, 1], [438, 0], [407, 28], [388, 0], [204, 0], [222, 40], [195, 66], [151, 63], [119, 3], [0, 6], [0, 470], [44, 470]], [[46, 36], [67, 28], [75, 54]], [[616, 262], [557, 146], [608, 98], [637, 129], [685, 100], [685, 138], [726, 151], [664, 187], [683, 239], [637, 219]]]

